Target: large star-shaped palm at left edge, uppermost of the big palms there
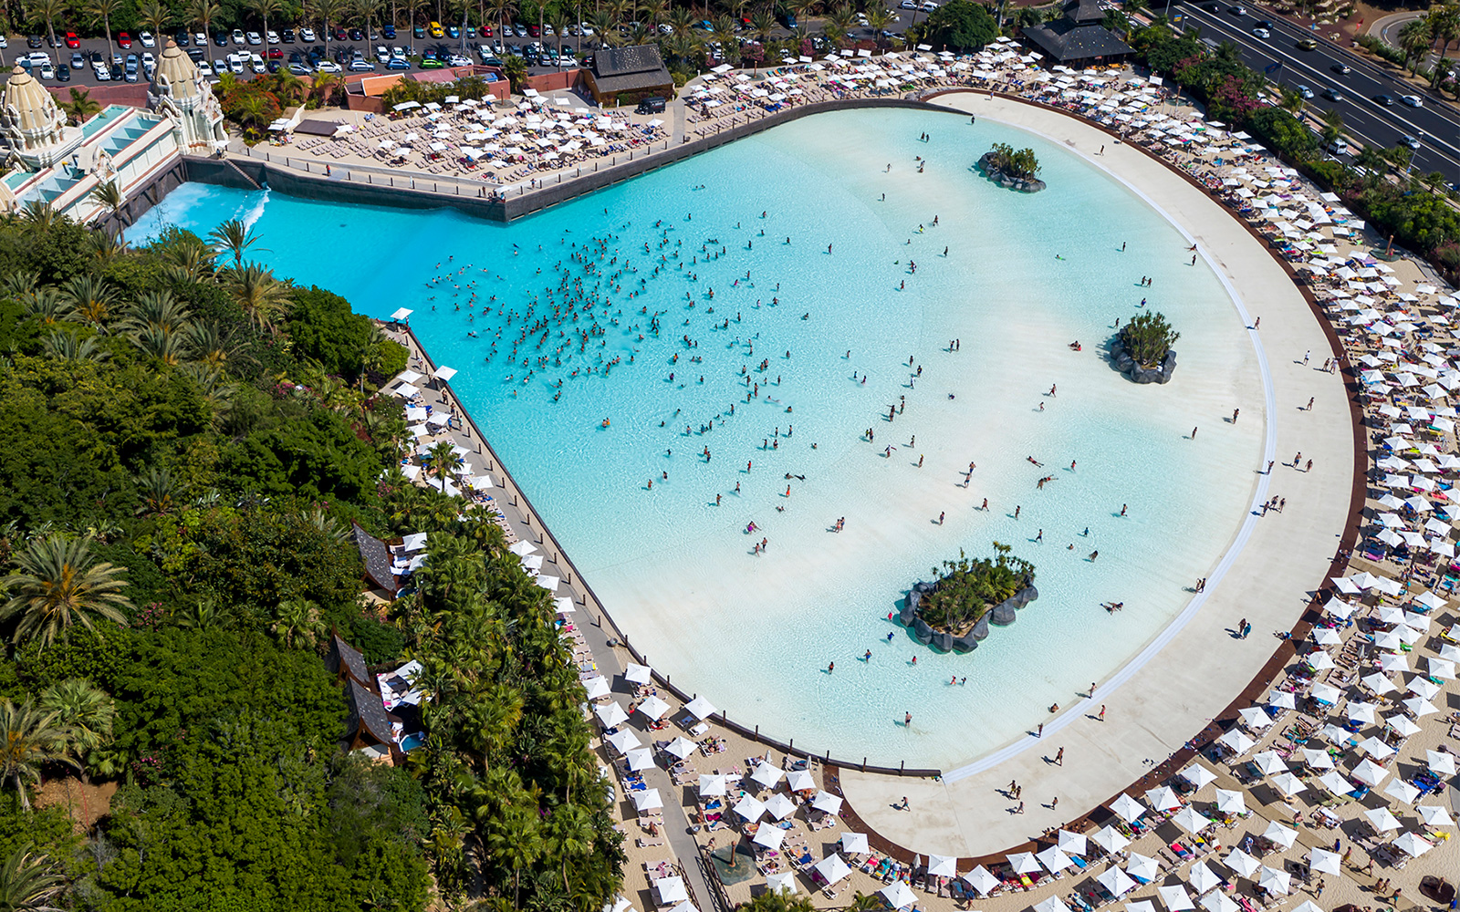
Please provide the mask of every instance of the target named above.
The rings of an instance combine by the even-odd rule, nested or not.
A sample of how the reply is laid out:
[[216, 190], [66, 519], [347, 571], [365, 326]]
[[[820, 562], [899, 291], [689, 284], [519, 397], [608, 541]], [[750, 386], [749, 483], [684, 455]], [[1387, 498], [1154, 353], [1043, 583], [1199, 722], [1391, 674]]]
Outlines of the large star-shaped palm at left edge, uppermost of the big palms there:
[[3, 581], [10, 598], [0, 607], [0, 620], [19, 617], [13, 642], [34, 641], [44, 649], [76, 625], [95, 629], [93, 619], [126, 626], [121, 608], [130, 608], [131, 600], [121, 590], [127, 581], [121, 568], [96, 562], [88, 538], [35, 538], [16, 565], [18, 572]]

